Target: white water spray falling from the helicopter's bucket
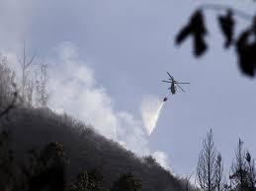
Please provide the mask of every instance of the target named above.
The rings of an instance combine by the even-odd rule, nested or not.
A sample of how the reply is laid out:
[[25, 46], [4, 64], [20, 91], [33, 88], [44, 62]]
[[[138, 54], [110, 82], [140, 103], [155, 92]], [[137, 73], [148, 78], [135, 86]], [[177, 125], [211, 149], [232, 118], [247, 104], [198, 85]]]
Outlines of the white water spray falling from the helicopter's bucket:
[[156, 126], [163, 104], [164, 102], [156, 96], [145, 96], [142, 100], [140, 111], [148, 135], [153, 132]]

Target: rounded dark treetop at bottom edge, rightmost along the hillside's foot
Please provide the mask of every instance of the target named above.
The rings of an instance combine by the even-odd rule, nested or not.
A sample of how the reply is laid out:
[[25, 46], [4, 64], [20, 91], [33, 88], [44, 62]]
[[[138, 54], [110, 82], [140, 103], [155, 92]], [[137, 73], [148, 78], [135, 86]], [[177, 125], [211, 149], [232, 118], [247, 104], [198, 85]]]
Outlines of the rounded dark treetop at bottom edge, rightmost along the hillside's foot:
[[121, 175], [117, 181], [114, 182], [111, 191], [140, 191], [142, 190], [142, 183], [139, 179], [134, 178], [131, 173]]

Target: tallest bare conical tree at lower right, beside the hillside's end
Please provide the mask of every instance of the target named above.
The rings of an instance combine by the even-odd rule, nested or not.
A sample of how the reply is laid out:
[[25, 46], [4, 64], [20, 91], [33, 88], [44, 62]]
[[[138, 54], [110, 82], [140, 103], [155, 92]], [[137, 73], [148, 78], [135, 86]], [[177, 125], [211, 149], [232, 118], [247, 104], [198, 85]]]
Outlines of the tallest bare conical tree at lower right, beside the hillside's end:
[[207, 138], [203, 141], [203, 149], [199, 155], [197, 181], [201, 188], [206, 191], [220, 188], [222, 171], [221, 156], [216, 152], [211, 129]]

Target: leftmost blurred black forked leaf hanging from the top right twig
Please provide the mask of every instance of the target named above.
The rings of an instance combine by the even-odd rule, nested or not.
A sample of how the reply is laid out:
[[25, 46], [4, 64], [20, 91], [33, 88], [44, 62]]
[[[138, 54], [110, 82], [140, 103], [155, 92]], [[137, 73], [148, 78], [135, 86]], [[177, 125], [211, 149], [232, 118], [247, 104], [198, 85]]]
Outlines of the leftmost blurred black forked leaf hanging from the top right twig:
[[182, 28], [176, 36], [176, 44], [181, 44], [188, 36], [194, 38], [194, 55], [201, 56], [205, 53], [208, 45], [205, 40], [207, 29], [205, 27], [204, 15], [201, 10], [197, 10], [192, 16], [189, 23]]

